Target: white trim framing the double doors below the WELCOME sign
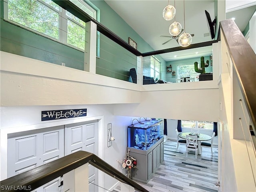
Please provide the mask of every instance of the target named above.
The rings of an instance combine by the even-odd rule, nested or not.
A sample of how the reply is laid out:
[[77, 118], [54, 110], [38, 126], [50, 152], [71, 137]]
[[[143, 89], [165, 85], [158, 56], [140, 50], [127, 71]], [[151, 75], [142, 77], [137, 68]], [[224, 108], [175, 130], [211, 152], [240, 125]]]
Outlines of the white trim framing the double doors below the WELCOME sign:
[[[29, 130], [37, 130], [42, 128], [61, 126], [66, 124], [73, 124], [78, 122], [87, 122], [91, 120], [98, 120], [98, 157], [103, 159], [104, 147], [103, 147], [103, 138], [104, 138], [104, 116], [94, 116], [94, 117], [86, 117], [86, 118], [76, 118], [70, 120], [63, 120], [58, 122], [47, 122], [44, 124], [35, 124], [28, 126], [20, 126], [20, 127], [12, 127], [12, 128], [2, 128], [0, 129], [0, 169], [1, 175], [0, 180], [4, 180], [7, 178], [7, 140], [8, 134], [23, 132]], [[99, 186], [103, 186], [104, 183], [104, 175], [102, 171], [99, 171]]]

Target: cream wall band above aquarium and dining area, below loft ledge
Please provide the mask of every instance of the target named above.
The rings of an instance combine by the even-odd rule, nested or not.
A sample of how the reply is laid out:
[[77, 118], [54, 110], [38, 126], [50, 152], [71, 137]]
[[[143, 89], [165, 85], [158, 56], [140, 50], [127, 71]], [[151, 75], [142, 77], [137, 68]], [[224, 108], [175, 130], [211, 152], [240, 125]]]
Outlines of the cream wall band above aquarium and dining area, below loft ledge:
[[219, 105], [218, 88], [158, 90], [142, 92], [139, 104], [115, 104], [114, 114], [217, 122]]

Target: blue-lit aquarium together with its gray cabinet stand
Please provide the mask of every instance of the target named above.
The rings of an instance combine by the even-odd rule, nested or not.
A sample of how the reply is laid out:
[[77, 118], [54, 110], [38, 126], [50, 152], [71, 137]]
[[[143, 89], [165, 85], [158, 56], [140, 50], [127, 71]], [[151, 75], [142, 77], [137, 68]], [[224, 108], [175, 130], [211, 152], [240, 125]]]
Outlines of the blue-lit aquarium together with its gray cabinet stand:
[[133, 180], [148, 183], [164, 161], [164, 126], [162, 120], [150, 120], [128, 126], [128, 149], [137, 160]]

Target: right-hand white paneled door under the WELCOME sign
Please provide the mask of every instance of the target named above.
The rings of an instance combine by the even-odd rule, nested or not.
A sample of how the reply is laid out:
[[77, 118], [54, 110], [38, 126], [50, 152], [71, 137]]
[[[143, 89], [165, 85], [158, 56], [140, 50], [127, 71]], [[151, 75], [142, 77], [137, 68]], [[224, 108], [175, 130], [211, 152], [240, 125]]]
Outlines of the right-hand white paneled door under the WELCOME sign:
[[[66, 125], [65, 129], [66, 155], [84, 150], [98, 156], [98, 120]], [[89, 191], [98, 192], [98, 169], [90, 164]]]

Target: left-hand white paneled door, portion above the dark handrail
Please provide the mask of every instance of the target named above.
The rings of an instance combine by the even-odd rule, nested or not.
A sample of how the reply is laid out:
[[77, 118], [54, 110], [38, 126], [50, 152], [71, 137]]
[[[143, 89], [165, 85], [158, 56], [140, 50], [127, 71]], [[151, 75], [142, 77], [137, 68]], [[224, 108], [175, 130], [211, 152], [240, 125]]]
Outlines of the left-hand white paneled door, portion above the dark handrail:
[[7, 177], [64, 156], [64, 126], [8, 135]]

